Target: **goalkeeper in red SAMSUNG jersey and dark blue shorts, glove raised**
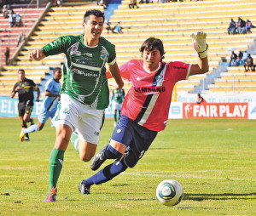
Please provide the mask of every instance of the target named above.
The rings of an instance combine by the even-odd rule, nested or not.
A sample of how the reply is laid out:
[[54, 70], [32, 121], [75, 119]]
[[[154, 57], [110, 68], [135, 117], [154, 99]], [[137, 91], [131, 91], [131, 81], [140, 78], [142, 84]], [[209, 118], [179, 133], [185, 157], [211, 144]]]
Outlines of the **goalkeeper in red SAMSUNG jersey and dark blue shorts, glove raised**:
[[130, 60], [120, 66], [121, 77], [130, 80], [132, 87], [125, 96], [121, 117], [109, 144], [92, 159], [90, 168], [100, 168], [107, 159], [116, 161], [84, 179], [79, 185], [82, 194], [90, 194], [91, 185], [107, 182], [127, 168], [133, 168], [148, 151], [157, 133], [166, 128], [175, 83], [208, 71], [206, 37], [203, 32], [192, 34], [199, 54], [198, 64], [163, 62], [163, 43], [150, 37], [140, 48], [143, 60]]

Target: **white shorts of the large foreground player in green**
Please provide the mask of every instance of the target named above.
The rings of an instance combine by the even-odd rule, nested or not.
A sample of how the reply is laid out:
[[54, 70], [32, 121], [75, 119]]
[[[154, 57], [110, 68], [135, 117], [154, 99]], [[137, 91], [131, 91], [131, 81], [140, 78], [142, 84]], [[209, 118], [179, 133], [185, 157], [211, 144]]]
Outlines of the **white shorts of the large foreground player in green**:
[[61, 94], [58, 110], [53, 118], [55, 127], [66, 124], [79, 134], [79, 139], [98, 144], [104, 110], [95, 110], [67, 94]]

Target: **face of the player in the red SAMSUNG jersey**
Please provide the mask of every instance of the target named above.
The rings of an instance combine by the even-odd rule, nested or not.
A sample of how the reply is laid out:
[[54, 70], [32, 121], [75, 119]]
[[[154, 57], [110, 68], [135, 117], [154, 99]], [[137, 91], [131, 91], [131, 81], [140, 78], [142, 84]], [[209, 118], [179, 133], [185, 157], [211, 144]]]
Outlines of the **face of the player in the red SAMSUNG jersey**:
[[158, 48], [154, 48], [152, 51], [144, 49], [143, 51], [143, 61], [146, 65], [148, 71], [154, 71], [158, 68], [161, 60], [160, 51]]

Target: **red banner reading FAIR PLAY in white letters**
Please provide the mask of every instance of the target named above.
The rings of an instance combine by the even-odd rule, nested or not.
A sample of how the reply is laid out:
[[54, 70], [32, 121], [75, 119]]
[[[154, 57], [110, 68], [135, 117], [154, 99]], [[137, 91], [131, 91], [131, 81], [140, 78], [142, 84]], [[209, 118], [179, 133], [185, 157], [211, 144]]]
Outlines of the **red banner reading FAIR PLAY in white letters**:
[[183, 103], [183, 118], [248, 118], [248, 103]]

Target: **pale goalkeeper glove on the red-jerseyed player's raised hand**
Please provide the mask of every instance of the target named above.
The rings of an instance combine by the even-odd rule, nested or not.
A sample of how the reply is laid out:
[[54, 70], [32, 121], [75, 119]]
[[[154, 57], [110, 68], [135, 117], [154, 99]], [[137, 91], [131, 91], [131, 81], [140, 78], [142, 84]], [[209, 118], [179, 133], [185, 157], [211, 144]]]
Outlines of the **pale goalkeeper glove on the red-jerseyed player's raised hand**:
[[197, 51], [199, 58], [203, 59], [207, 57], [207, 33], [197, 31], [196, 33], [191, 34], [191, 38], [194, 41], [194, 48]]

